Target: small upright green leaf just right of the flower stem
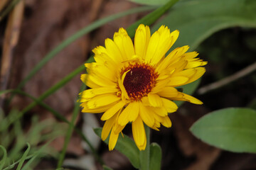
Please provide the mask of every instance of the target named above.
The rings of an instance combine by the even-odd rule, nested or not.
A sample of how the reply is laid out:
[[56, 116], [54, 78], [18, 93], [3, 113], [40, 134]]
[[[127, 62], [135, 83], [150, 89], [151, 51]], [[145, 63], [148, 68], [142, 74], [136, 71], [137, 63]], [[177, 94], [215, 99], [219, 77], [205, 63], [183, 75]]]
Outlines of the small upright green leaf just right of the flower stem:
[[161, 169], [161, 147], [157, 143], [151, 143], [150, 145], [150, 170]]

